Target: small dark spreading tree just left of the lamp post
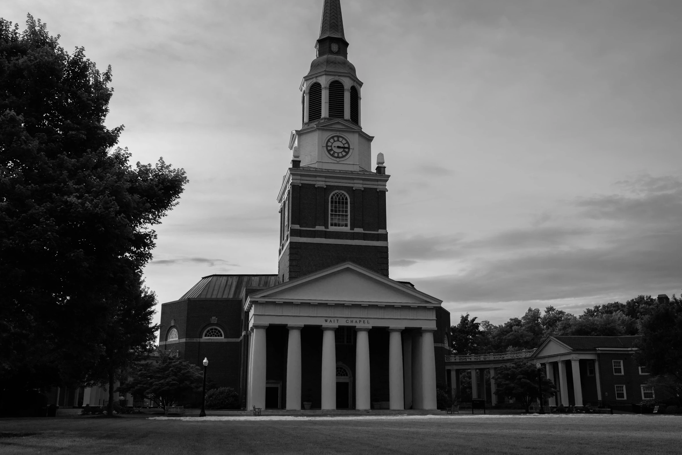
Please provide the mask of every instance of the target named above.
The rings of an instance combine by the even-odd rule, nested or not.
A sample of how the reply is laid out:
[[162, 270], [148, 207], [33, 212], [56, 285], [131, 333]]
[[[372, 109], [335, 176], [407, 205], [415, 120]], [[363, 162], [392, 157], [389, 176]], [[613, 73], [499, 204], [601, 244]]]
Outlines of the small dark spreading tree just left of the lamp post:
[[201, 390], [202, 380], [198, 366], [180, 359], [174, 351], [157, 349], [147, 362], [130, 371], [130, 379], [121, 383], [116, 392], [144, 396], [166, 407], [173, 406], [187, 392]]

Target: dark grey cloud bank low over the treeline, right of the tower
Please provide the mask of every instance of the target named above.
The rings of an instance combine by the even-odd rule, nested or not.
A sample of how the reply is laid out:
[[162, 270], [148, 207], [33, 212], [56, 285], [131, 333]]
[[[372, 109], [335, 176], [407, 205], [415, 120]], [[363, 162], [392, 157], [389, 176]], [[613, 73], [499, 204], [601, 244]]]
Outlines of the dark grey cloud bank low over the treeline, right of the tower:
[[572, 216], [558, 218], [565, 226], [508, 229], [472, 241], [413, 237], [402, 240], [396, 256], [422, 262], [469, 256], [460, 274], [405, 278], [447, 302], [634, 297], [679, 289], [682, 181], [643, 175], [618, 185], [621, 194], [569, 204]]

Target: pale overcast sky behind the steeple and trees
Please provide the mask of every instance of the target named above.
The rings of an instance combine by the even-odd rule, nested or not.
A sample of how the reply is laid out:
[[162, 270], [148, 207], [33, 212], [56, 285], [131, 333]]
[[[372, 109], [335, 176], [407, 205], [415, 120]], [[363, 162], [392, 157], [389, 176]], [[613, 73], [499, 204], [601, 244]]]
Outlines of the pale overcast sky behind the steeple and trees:
[[[322, 0], [3, 3], [113, 68], [106, 124], [190, 183], [156, 226], [160, 302], [276, 274], [276, 196]], [[503, 323], [682, 288], [682, 2], [342, 0], [383, 153], [390, 277]], [[160, 310], [160, 306], [158, 307]], [[156, 316], [158, 321], [159, 314]]]

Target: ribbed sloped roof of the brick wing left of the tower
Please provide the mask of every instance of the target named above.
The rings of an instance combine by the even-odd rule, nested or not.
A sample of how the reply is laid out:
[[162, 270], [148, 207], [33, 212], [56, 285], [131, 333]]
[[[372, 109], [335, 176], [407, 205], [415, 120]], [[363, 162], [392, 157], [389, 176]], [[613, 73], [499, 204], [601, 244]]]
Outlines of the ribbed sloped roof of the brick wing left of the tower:
[[209, 275], [179, 298], [184, 299], [240, 299], [248, 287], [268, 288], [278, 282], [274, 275]]

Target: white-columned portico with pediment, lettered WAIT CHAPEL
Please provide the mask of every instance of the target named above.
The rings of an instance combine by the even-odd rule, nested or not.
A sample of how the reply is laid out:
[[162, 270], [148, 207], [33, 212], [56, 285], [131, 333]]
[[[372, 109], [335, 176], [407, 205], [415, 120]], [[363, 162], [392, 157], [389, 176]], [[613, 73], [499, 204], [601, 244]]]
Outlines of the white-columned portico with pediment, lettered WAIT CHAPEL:
[[[355, 409], [372, 409], [372, 402], [436, 409], [437, 306], [439, 299], [354, 263], [252, 293], [245, 308], [247, 406], [266, 407], [267, 383], [280, 368], [286, 370], [286, 409], [299, 410], [303, 402], [337, 409], [351, 395], [348, 407]], [[271, 366], [267, 353], [277, 349], [286, 360]], [[319, 387], [312, 384], [316, 377]], [[337, 390], [339, 378], [349, 384], [347, 392]]]

